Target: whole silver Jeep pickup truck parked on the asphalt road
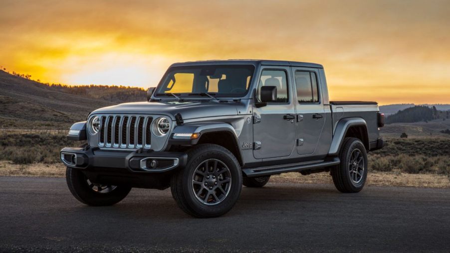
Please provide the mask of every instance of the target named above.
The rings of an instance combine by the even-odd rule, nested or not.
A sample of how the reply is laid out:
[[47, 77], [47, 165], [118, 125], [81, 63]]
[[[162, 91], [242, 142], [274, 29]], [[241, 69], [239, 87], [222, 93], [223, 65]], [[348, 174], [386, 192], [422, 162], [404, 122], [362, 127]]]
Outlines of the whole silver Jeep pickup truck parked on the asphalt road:
[[377, 103], [329, 101], [314, 63], [175, 63], [147, 99], [97, 109], [70, 128], [70, 140], [87, 141], [60, 154], [80, 202], [114, 205], [133, 187], [170, 187], [186, 213], [217, 217], [242, 185], [285, 172], [330, 172], [339, 191], [355, 193], [367, 152], [384, 144]]

